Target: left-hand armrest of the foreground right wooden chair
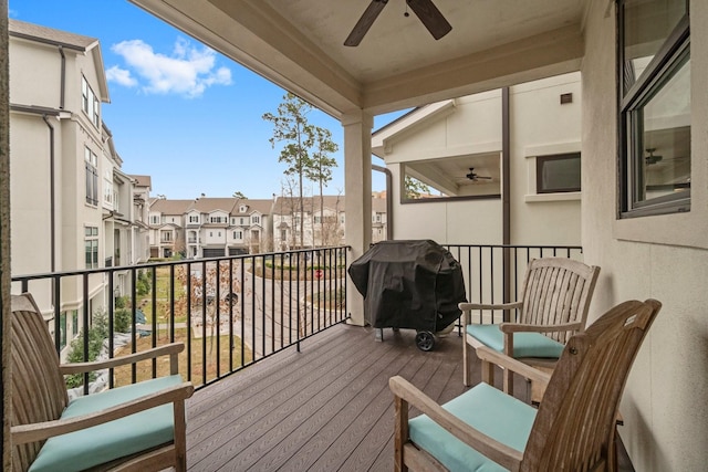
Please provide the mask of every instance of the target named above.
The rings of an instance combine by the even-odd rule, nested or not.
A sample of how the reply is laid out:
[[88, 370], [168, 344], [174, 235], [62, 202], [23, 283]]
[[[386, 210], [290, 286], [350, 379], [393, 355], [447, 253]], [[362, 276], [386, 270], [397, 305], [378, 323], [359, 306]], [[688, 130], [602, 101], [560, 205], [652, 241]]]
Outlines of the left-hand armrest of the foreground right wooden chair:
[[[518, 470], [523, 453], [510, 448], [496, 439], [476, 430], [467, 424], [449, 411], [445, 410], [438, 403], [433, 401], [423, 391], [417, 389], [413, 384], [396, 376], [388, 380], [391, 391], [398, 398], [405, 400], [409, 405], [416, 407], [423, 413], [427, 415], [433, 421], [449, 431], [452, 436], [473, 448], [481, 454], [488, 457], [492, 461], [511, 470]], [[407, 413], [407, 412], [406, 412]]]

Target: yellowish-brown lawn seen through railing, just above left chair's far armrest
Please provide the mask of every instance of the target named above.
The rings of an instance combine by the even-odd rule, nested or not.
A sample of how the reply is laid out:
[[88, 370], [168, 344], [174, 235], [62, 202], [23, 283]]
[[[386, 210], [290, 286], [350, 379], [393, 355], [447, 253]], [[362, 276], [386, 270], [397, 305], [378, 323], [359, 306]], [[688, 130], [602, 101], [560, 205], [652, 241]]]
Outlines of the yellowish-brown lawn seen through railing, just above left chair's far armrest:
[[[179, 373], [183, 378], [187, 379], [187, 329], [175, 329], [175, 340], [185, 344], [185, 350], [179, 354]], [[202, 347], [205, 338], [191, 338], [191, 381], [195, 386], [201, 385], [204, 380], [205, 364], [202, 359]], [[207, 359], [206, 371], [207, 381], [216, 378], [217, 376], [217, 356], [216, 356], [216, 338], [207, 337]], [[214, 343], [211, 343], [214, 342]], [[158, 345], [167, 344], [163, 335], [158, 339]], [[228, 373], [231, 368], [229, 366], [229, 336], [223, 335], [219, 338], [220, 347], [220, 374]], [[137, 339], [137, 352], [146, 350], [153, 347], [153, 337], [146, 336]], [[124, 346], [116, 357], [131, 354], [131, 346]], [[244, 353], [246, 364], [252, 359], [250, 349], [247, 348]], [[238, 337], [235, 337], [233, 349], [233, 368], [241, 365], [241, 342]], [[163, 356], [157, 359], [157, 376], [169, 375], [169, 356]], [[153, 378], [153, 361], [144, 360], [136, 365], [137, 380], [145, 380]], [[132, 382], [132, 366], [122, 366], [114, 370], [115, 386], [128, 385]]]

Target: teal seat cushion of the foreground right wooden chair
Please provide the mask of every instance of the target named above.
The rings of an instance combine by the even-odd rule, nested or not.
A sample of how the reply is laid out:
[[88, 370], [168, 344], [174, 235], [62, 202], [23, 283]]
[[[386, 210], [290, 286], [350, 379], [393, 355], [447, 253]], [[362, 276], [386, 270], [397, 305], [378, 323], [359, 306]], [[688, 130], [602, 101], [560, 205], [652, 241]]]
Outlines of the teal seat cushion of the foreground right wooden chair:
[[[485, 434], [523, 451], [535, 419], [535, 408], [487, 384], [479, 384], [442, 406]], [[408, 421], [410, 440], [451, 472], [506, 471], [425, 415]]]

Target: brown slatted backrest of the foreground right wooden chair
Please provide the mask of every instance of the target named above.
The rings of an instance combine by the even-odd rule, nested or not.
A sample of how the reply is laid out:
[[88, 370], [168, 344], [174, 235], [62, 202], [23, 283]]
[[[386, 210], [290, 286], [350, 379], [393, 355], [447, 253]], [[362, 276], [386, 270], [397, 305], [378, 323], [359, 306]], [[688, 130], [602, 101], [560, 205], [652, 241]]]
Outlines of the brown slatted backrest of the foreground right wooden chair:
[[626, 378], [660, 304], [629, 301], [569, 339], [533, 423], [522, 471], [590, 470], [607, 459]]

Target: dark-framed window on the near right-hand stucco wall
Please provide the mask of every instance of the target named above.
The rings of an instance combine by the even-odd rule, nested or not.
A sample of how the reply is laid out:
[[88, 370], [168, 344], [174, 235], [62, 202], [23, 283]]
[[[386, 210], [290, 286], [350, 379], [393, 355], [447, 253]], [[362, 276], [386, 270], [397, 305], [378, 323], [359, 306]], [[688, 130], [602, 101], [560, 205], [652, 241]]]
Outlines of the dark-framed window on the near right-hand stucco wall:
[[687, 0], [621, 0], [621, 217], [690, 210]]

